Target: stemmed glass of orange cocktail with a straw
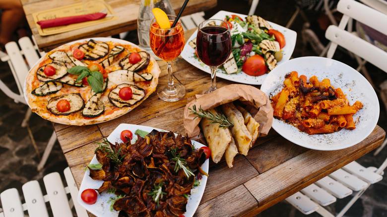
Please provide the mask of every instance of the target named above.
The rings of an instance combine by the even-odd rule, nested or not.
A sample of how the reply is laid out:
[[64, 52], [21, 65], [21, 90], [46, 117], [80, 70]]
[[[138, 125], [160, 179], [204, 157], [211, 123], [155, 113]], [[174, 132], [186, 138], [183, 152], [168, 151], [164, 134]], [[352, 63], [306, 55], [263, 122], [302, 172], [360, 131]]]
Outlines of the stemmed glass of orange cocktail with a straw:
[[[168, 18], [172, 26], [176, 16], [168, 15]], [[182, 53], [186, 42], [181, 20], [178, 20], [175, 27], [160, 29], [156, 18], [153, 18], [150, 22], [149, 38], [153, 53], [166, 61], [168, 66], [168, 86], [161, 87], [158, 96], [164, 101], [178, 101], [186, 95], [184, 85], [174, 83], [172, 75], [172, 61]]]

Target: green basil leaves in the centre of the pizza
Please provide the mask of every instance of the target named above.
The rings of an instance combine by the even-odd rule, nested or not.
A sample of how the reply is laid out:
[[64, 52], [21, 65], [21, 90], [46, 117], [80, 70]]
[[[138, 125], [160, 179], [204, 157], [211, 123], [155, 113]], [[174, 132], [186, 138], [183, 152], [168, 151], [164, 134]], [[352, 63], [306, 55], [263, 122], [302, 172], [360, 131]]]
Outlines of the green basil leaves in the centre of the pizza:
[[95, 93], [102, 92], [102, 86], [104, 84], [104, 77], [99, 71], [90, 71], [86, 66], [76, 65], [67, 69], [67, 72], [73, 75], [78, 75], [76, 83], [87, 77], [87, 83], [93, 89]]

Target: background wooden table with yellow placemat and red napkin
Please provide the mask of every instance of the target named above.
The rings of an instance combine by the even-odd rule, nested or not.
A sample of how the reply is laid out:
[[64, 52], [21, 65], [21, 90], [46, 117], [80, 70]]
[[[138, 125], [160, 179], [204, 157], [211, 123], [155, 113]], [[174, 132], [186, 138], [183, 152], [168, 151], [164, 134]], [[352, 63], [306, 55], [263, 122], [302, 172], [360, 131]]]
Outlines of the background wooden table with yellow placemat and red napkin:
[[[28, 25], [36, 39], [38, 47], [48, 52], [67, 42], [90, 37], [107, 37], [122, 32], [137, 29], [137, 16], [141, 0], [105, 0], [117, 14], [117, 20], [99, 25], [89, 26], [61, 34], [40, 36], [32, 14], [55, 7], [79, 3], [81, 0], [21, 0], [27, 17]], [[179, 12], [184, 0], [170, 0], [176, 14]], [[183, 12], [183, 16], [195, 12], [208, 10], [215, 7], [217, 0], [190, 0]]]

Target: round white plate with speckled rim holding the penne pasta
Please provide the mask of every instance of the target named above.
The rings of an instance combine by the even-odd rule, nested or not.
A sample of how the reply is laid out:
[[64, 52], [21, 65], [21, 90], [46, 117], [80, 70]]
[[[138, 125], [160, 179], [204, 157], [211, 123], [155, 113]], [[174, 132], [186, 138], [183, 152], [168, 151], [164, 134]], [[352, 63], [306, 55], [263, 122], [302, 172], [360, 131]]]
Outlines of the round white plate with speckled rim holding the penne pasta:
[[285, 75], [291, 71], [306, 75], [308, 79], [313, 75], [320, 81], [330, 79], [334, 88], [341, 88], [350, 105], [358, 100], [363, 108], [353, 115], [356, 129], [342, 129], [330, 134], [308, 135], [274, 118], [272, 127], [281, 136], [310, 149], [339, 150], [358, 144], [374, 130], [379, 119], [379, 100], [371, 84], [358, 71], [334, 59], [317, 56], [294, 58], [272, 70], [260, 90], [271, 98], [282, 90]]

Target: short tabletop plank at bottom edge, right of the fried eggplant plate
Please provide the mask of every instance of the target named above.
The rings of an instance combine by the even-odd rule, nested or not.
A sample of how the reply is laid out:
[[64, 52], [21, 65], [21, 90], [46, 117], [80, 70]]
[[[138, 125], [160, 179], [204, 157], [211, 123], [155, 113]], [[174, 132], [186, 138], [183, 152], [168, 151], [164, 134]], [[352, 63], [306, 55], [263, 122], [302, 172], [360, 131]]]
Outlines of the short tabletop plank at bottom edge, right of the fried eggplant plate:
[[239, 185], [199, 205], [194, 217], [241, 216], [241, 214], [256, 210], [257, 207], [258, 203], [254, 197], [243, 185]]

